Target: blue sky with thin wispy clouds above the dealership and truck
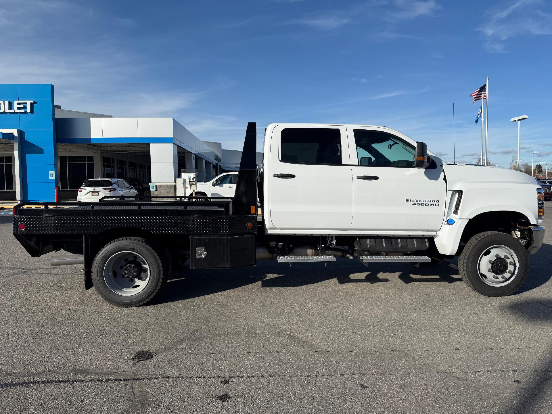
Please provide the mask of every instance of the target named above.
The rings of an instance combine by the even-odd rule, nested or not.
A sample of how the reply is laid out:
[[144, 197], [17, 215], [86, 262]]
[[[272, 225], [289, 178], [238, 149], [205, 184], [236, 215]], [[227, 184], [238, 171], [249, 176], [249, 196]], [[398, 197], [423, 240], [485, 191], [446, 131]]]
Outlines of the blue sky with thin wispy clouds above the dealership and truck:
[[[552, 2], [0, 1], [0, 83], [53, 83], [64, 108], [172, 116], [241, 148], [247, 121], [386, 125], [474, 162], [552, 162]], [[259, 148], [262, 134], [259, 136]]]

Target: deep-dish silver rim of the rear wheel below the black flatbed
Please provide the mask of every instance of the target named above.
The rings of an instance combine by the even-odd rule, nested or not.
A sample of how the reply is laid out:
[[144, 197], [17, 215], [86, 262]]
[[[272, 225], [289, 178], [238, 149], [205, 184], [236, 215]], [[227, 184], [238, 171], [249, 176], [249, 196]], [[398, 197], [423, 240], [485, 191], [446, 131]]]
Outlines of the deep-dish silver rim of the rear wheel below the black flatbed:
[[129, 251], [113, 254], [105, 263], [103, 274], [107, 287], [120, 296], [139, 294], [146, 288], [150, 275], [146, 259]]

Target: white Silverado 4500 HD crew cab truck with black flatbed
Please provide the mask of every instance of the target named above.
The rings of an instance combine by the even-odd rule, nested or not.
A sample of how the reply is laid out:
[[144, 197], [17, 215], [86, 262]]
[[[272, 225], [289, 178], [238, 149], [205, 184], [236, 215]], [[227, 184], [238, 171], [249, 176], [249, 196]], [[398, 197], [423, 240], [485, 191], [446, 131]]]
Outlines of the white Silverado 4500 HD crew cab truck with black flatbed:
[[[20, 204], [14, 236], [31, 256], [83, 254], [57, 264], [83, 263], [85, 287], [119, 306], [151, 300], [188, 257], [192, 269], [261, 259], [437, 261], [480, 294], [505, 296], [542, 245], [543, 189], [522, 172], [445, 164], [385, 126], [271, 124], [259, 177], [256, 142], [250, 123], [233, 199], [109, 201], [90, 211], [86, 203]], [[206, 186], [219, 179], [233, 183], [223, 175]]]

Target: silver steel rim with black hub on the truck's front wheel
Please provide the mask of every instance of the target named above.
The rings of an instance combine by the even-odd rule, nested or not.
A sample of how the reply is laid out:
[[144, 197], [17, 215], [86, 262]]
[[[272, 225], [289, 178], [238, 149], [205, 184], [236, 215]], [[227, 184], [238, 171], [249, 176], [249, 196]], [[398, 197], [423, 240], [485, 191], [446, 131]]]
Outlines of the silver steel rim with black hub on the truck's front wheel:
[[512, 282], [517, 276], [518, 269], [519, 260], [516, 253], [503, 245], [487, 248], [477, 262], [479, 278], [495, 288]]

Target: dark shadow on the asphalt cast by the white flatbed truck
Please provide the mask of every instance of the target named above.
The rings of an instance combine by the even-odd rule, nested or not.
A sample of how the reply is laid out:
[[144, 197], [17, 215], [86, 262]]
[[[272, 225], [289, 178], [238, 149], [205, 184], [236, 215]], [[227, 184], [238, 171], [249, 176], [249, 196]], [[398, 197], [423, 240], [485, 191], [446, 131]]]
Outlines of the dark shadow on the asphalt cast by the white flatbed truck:
[[[538, 288], [548, 282], [552, 273], [548, 271], [552, 246], [543, 245], [539, 252], [529, 256], [529, 276], [516, 293], [524, 293]], [[385, 283], [390, 282], [389, 273], [403, 283], [435, 283], [452, 284], [461, 282], [458, 270], [442, 263], [421, 263], [415, 267], [411, 263], [371, 263], [365, 267], [357, 260], [337, 259], [338, 263], [278, 264], [275, 261], [259, 261], [256, 267], [236, 269], [195, 269], [190, 270], [188, 263], [184, 268], [174, 272], [167, 282], [166, 289], [158, 296], [156, 303], [173, 302], [197, 298], [240, 288], [261, 282], [262, 288], [297, 288], [336, 279], [339, 284], [346, 283]], [[336, 266], [337, 265], [337, 266]], [[271, 277], [267, 277], [271, 275]], [[395, 276], [393, 276], [395, 278]]]

